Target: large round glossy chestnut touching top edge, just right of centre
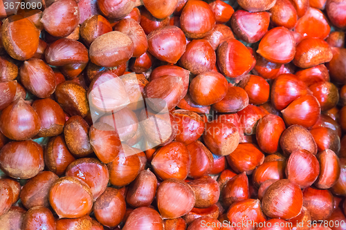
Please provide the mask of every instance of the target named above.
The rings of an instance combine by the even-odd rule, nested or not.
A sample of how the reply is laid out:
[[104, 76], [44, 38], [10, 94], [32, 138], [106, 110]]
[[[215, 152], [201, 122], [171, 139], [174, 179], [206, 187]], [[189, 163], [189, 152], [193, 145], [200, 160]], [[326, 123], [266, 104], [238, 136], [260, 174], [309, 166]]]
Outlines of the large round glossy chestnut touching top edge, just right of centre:
[[181, 12], [181, 30], [186, 37], [201, 39], [215, 26], [215, 15], [208, 3], [194, 0], [188, 1]]

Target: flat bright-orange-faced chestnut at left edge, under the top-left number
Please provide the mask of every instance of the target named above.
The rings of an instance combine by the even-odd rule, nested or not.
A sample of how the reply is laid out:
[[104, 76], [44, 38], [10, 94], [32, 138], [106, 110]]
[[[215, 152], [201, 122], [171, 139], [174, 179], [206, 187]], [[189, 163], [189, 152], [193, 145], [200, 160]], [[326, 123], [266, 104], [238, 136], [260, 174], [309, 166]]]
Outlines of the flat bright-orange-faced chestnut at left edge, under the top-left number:
[[33, 57], [39, 46], [39, 30], [29, 19], [19, 15], [8, 17], [3, 22], [1, 36], [6, 52], [19, 61]]

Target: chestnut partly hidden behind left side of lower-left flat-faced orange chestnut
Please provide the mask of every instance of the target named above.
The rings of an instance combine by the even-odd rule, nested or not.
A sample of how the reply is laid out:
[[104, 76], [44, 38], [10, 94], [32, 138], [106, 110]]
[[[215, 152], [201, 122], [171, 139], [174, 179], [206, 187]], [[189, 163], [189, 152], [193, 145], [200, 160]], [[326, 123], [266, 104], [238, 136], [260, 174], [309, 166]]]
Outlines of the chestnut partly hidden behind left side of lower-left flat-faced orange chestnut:
[[37, 206], [49, 207], [48, 193], [52, 184], [59, 177], [50, 171], [44, 171], [37, 174], [24, 184], [21, 189], [21, 203], [26, 209], [31, 209]]

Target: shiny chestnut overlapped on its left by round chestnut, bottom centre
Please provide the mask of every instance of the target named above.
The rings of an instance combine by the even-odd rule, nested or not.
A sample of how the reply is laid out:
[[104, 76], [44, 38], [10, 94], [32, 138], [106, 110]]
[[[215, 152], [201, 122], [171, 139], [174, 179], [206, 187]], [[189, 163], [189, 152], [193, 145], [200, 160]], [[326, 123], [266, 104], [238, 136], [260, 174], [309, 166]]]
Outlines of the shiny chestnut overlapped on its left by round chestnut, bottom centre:
[[217, 181], [210, 178], [209, 175], [188, 182], [194, 191], [196, 203], [194, 207], [206, 209], [212, 204], [216, 204], [220, 196], [220, 188]]

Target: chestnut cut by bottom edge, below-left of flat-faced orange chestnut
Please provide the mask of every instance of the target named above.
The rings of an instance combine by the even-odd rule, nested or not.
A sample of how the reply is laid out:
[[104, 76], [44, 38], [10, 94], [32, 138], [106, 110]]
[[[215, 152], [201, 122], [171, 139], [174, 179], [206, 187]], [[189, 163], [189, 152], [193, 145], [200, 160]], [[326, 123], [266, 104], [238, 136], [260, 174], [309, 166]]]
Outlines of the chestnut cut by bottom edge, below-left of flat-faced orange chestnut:
[[34, 230], [44, 227], [46, 230], [55, 230], [53, 213], [46, 207], [33, 207], [29, 209], [23, 220], [23, 229]]

